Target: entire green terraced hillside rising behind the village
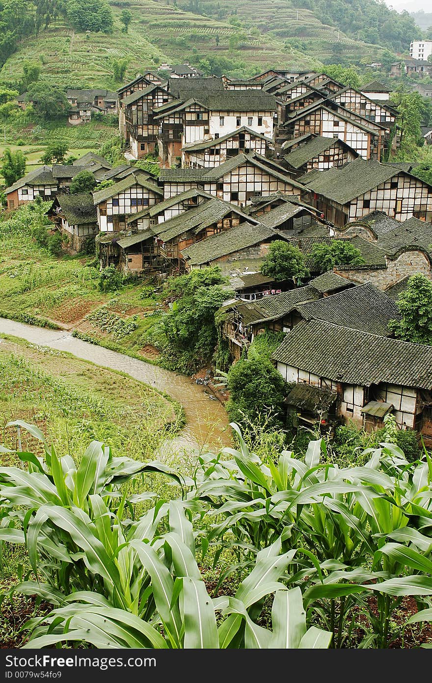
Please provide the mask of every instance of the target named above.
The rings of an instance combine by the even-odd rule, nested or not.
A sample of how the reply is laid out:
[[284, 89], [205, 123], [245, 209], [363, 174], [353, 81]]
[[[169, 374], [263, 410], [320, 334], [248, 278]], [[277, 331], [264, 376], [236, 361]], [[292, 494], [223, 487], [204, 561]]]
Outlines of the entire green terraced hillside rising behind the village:
[[[213, 71], [218, 70], [216, 61], [221, 73], [246, 76], [275, 64], [319, 68], [321, 61], [341, 61], [342, 53], [351, 61], [379, 53], [377, 46], [321, 23], [311, 10], [293, 9], [289, 0], [225, 0], [227, 12], [222, 18], [210, 0], [195, 2], [197, 11], [207, 16], [190, 12], [191, 2], [182, 0], [182, 8], [157, 0], [111, 0], [110, 4], [115, 18], [112, 33], [78, 32], [64, 18], [57, 18], [37, 38], [27, 36], [20, 42], [0, 71], [1, 81], [19, 82], [25, 59], [41, 64], [42, 80], [116, 87], [112, 59], [128, 60], [128, 79], [143, 67], [185, 58], [195, 64], [210, 59]], [[127, 34], [119, 20], [124, 8], [132, 14]], [[241, 18], [240, 27], [229, 23], [231, 10]]]

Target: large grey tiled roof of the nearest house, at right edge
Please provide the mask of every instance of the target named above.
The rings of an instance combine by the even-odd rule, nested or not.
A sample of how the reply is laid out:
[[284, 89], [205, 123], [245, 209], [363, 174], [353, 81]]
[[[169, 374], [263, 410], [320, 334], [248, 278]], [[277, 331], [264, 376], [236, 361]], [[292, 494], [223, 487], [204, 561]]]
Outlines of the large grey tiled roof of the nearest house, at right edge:
[[296, 325], [272, 358], [350, 385], [370, 387], [388, 382], [432, 389], [432, 346], [401, 342], [319, 320]]

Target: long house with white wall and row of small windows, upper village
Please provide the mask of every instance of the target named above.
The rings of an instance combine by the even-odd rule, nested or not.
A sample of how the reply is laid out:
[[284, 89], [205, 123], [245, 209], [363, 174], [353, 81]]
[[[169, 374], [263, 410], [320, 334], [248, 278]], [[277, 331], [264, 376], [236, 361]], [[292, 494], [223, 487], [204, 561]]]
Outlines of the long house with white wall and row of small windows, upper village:
[[[201, 79], [200, 79], [201, 80]], [[173, 107], [157, 112], [164, 165], [173, 163], [182, 148], [210, 141], [246, 127], [272, 139], [276, 100], [262, 90], [191, 90], [180, 92]]]

